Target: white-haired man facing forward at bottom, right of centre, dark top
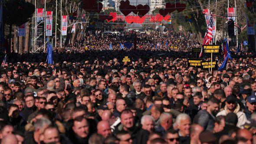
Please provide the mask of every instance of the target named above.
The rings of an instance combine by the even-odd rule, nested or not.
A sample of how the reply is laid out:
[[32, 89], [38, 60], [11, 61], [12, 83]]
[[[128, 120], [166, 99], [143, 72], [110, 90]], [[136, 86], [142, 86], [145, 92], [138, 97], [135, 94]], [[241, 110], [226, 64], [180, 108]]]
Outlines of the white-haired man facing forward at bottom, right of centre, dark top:
[[191, 119], [187, 114], [180, 114], [175, 120], [175, 127], [178, 129], [181, 144], [190, 143]]

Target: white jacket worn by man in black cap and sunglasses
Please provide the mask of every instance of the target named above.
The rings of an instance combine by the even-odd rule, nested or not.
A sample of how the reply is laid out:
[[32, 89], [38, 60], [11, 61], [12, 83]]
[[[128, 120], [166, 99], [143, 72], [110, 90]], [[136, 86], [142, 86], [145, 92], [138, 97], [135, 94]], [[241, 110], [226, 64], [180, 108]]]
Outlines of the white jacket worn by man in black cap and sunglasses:
[[[237, 115], [237, 118], [238, 118], [238, 122], [237, 122], [236, 126], [237, 126], [238, 128], [242, 128], [242, 125], [245, 124], [245, 122], [246, 122], [247, 119], [246, 119], [245, 113], [242, 112], [242, 111], [240, 111], [240, 105], [239, 105], [239, 104], [237, 104], [237, 106], [236, 106], [235, 110], [233, 111], [233, 113], [235, 113], [235, 114]], [[227, 112], [227, 105], [226, 105], [225, 108], [224, 108], [224, 110], [223, 110], [223, 111], [220, 111], [220, 112], [216, 115], [216, 117], [219, 116], [219, 115], [226, 116], [227, 114], [228, 114], [228, 112]]]

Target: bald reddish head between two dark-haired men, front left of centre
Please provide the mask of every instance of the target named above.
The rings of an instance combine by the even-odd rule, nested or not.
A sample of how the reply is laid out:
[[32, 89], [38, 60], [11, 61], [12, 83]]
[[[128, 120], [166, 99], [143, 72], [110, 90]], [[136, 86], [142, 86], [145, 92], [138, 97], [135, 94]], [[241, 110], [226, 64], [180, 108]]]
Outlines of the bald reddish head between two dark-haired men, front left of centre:
[[97, 133], [101, 134], [104, 138], [112, 134], [108, 121], [100, 121], [97, 125]]

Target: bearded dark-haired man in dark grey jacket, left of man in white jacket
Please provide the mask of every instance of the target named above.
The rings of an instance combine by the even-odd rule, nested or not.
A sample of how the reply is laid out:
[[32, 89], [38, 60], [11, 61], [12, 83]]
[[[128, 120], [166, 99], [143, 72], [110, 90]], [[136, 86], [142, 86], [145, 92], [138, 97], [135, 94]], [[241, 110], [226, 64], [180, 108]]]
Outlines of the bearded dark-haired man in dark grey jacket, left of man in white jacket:
[[207, 102], [207, 109], [201, 110], [194, 118], [194, 123], [200, 124], [204, 130], [211, 131], [214, 128], [215, 115], [219, 111], [219, 101], [211, 98]]

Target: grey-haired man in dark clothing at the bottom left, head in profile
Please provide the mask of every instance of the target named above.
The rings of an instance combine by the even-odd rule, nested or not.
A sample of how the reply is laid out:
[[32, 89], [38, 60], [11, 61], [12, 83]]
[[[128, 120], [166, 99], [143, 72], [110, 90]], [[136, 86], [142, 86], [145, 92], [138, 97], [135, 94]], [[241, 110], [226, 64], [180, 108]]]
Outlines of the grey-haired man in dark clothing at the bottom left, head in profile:
[[46, 128], [48, 128], [52, 122], [46, 118], [40, 118], [34, 124], [34, 131], [29, 132], [25, 136], [24, 144], [34, 144], [34, 142], [39, 143], [40, 135], [43, 134]]

